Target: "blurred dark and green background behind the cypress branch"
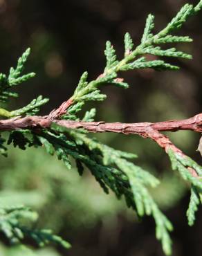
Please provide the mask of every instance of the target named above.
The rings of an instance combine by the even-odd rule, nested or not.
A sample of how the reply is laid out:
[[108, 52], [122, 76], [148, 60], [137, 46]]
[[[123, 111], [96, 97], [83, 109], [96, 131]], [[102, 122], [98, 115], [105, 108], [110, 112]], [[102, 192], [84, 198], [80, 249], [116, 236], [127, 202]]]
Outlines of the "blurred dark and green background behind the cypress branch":
[[[24, 106], [35, 96], [50, 98], [42, 114], [49, 113], [68, 99], [84, 71], [94, 79], [104, 68], [107, 39], [123, 54], [123, 37], [128, 31], [138, 45], [149, 12], [156, 15], [156, 30], [163, 28], [185, 3], [183, 0], [0, 0], [1, 72], [15, 65], [30, 46], [32, 53], [26, 71], [37, 76], [17, 91], [20, 97], [10, 109]], [[197, 1], [189, 1], [197, 3]], [[177, 72], [151, 70], [123, 73], [129, 89], [107, 86], [109, 96], [97, 107], [96, 120], [110, 122], [158, 122], [187, 118], [201, 112], [202, 13], [193, 17], [181, 35], [190, 35], [192, 44], [179, 48], [192, 53], [194, 60], [175, 60]], [[178, 147], [202, 163], [196, 152], [199, 134], [180, 131], [169, 134]], [[103, 143], [138, 154], [138, 165], [154, 173], [162, 184], [152, 191], [156, 201], [174, 223], [176, 256], [201, 255], [201, 210], [194, 227], [185, 216], [189, 190], [174, 176], [167, 156], [152, 141], [137, 136], [98, 134]], [[0, 156], [0, 203], [32, 206], [39, 212], [38, 227], [53, 228], [71, 242], [73, 248], [8, 248], [0, 245], [2, 256], [160, 256], [152, 218], [138, 220], [124, 202], [106, 195], [86, 170], [81, 178], [40, 149], [10, 147], [8, 158]], [[1, 235], [3, 238], [3, 235]], [[34, 245], [33, 245], [34, 246]]]

